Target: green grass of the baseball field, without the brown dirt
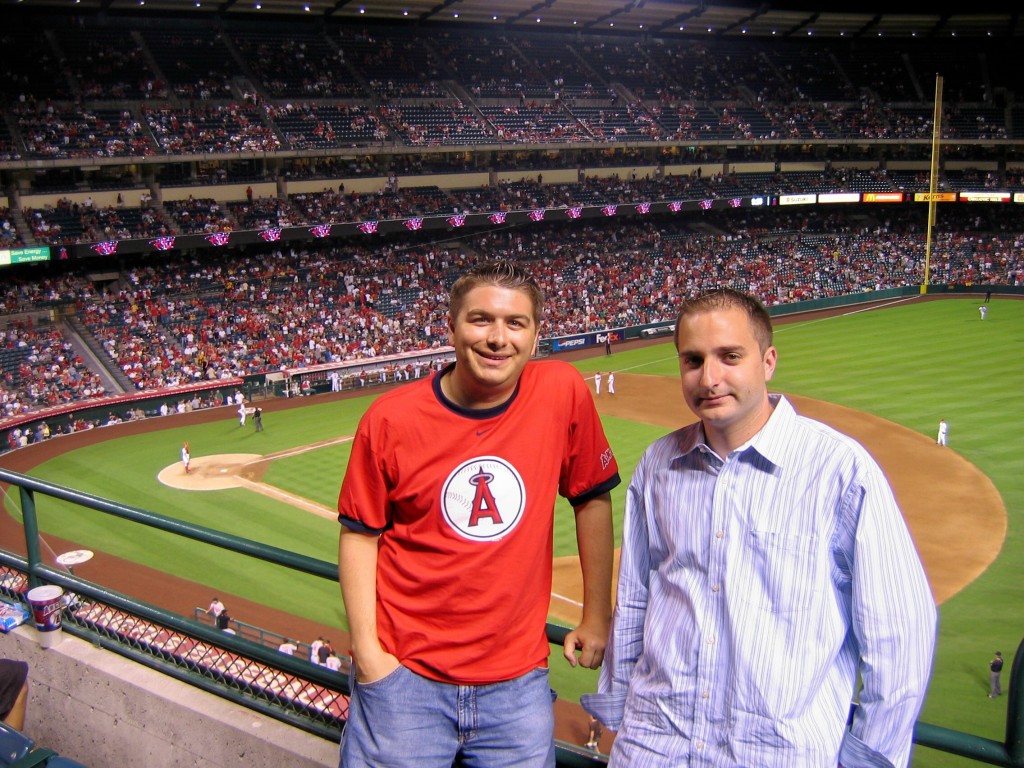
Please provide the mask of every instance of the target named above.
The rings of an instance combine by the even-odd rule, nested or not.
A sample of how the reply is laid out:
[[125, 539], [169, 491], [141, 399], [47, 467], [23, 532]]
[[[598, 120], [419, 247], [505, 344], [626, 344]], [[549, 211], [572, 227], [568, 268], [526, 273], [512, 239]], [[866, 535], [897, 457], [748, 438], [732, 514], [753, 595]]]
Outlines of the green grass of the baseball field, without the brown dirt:
[[[1006, 697], [987, 698], [987, 662], [1002, 650], [1008, 662], [1024, 636], [1024, 301], [994, 299], [979, 319], [977, 299], [894, 301], [843, 316], [787, 322], [776, 328], [779, 362], [772, 388], [866, 411], [934, 437], [940, 418], [950, 424], [950, 449], [988, 475], [1002, 495], [1010, 527], [998, 560], [944, 604], [935, 674], [923, 720], [1001, 740]], [[676, 378], [671, 342], [616, 352], [579, 364], [587, 373], [607, 370]], [[182, 492], [157, 482], [176, 461], [182, 440], [194, 457], [270, 454], [354, 431], [370, 398], [316, 403], [268, 413], [266, 431], [222, 422], [169, 428], [74, 451], [33, 470], [61, 485], [143, 509], [334, 561], [337, 523], [298, 512], [247, 490]], [[684, 408], [681, 396], [666, 404]], [[226, 413], [226, 412], [225, 412]], [[170, 420], [169, 420], [169, 423]], [[665, 429], [621, 419], [605, 427], [628, 481], [643, 449]], [[348, 456], [347, 443], [297, 454], [272, 464], [264, 480], [333, 507]], [[927, 457], [922, 457], [927, 460]], [[616, 537], [625, 482], [613, 495]], [[258, 561], [211, 556], [205, 545], [173, 538], [51, 500], [41, 500], [41, 527], [83, 546], [111, 552], [168, 572], [184, 574], [211, 590], [238, 594], [313, 621], [344, 627], [335, 584], [314, 579], [268, 578]], [[11, 505], [8, 502], [8, 509]], [[955, 509], [936, 510], [956, 514]], [[555, 552], [575, 552], [571, 510], [556, 510]], [[273, 585], [278, 585], [274, 587]], [[1010, 666], [1007, 666], [1009, 673]], [[553, 684], [575, 700], [593, 689], [595, 675], [552, 664]], [[1008, 675], [1005, 675], [1005, 678]], [[916, 766], [969, 766], [970, 761], [919, 750]]]

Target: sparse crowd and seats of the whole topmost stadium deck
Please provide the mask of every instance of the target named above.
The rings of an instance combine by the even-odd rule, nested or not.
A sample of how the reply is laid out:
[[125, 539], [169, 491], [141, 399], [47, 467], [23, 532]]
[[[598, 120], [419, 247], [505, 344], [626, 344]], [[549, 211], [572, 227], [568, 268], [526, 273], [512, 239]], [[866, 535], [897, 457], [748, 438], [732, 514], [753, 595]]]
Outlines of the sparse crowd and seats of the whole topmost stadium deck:
[[[70, 97], [51, 97], [53, 72], [40, 71], [38, 82], [27, 73], [18, 83], [25, 92], [9, 109], [15, 132], [0, 135], [0, 153], [130, 158], [392, 141], [611, 143], [627, 136], [924, 141], [932, 133], [931, 93], [923, 86], [933, 75], [932, 56], [915, 49], [894, 57], [882, 42], [859, 43], [859, 59], [879, 54], [865, 70], [846, 50], [833, 55], [765, 40], [737, 47], [725, 40], [563, 38], [553, 45], [543, 35], [454, 31], [360, 29], [340, 38], [271, 27], [127, 32], [83, 27], [41, 34], [41, 45], [53, 49], [49, 58], [62, 62], [73, 84]], [[957, 60], [972, 61], [958, 75], [966, 81], [1007, 75], [985, 66], [986, 56], [997, 58], [1001, 41], [986, 41], [986, 48], [957, 44]], [[238, 73], [253, 82], [233, 87]], [[901, 87], [894, 91], [890, 82]], [[988, 92], [1000, 84], [1012, 85], [992, 82]], [[900, 98], [890, 98], [894, 92]], [[953, 92], [961, 101], [971, 93]], [[983, 94], [974, 97], [946, 106], [947, 138], [1021, 134], [1011, 111], [985, 102]], [[103, 106], [115, 102], [116, 109]]]

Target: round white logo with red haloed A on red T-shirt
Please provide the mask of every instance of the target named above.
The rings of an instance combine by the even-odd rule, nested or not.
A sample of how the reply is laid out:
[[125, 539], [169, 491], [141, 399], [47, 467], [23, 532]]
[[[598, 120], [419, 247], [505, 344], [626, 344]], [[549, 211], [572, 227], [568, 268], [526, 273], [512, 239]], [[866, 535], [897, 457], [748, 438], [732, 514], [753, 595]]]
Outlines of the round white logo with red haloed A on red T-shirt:
[[479, 456], [455, 468], [441, 486], [444, 520], [459, 536], [493, 542], [522, 521], [526, 486], [515, 467], [497, 456]]

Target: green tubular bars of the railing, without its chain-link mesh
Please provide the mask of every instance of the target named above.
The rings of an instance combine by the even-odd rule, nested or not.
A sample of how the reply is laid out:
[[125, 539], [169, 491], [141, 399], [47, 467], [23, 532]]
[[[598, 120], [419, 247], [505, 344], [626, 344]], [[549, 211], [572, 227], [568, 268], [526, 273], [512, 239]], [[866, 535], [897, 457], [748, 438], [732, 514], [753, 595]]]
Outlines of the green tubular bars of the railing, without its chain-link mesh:
[[[152, 622], [155, 625], [196, 638], [212, 646], [229, 649], [246, 658], [255, 659], [272, 669], [295, 675], [297, 678], [323, 686], [325, 689], [338, 691], [346, 696], [350, 692], [347, 676], [339, 675], [318, 665], [310, 664], [304, 658], [280, 653], [275, 649], [267, 648], [262, 643], [224, 633], [203, 622], [172, 613], [130, 595], [114, 592], [100, 585], [76, 577], [73, 573], [68, 573], [45, 564], [41, 560], [39, 551], [39, 527], [34, 495], [38, 493], [55, 499], [61, 499], [72, 504], [111, 514], [141, 525], [159, 528], [231, 552], [257, 557], [292, 570], [298, 570], [336, 582], [338, 580], [338, 567], [335, 563], [223, 534], [195, 523], [183, 522], [136, 507], [112, 502], [92, 494], [63, 487], [46, 480], [39, 480], [19, 472], [0, 469], [0, 483], [16, 486], [19, 490], [26, 536], [26, 552], [28, 554], [28, 557], [23, 558], [16, 554], [0, 550], [0, 565], [7, 565], [24, 570], [28, 573], [30, 585], [58, 585], [78, 596], [84, 596], [98, 603], [114, 606], [118, 610], [137, 616], [142, 621]], [[67, 623], [65, 629], [70, 634], [88, 637], [90, 640], [96, 641], [94, 635], [90, 635], [86, 628], [75, 622]], [[548, 641], [552, 644], [562, 645], [568, 632], [569, 630], [565, 627], [550, 623], [547, 625]], [[195, 670], [191, 671], [191, 676], [186, 676], [180, 671], [169, 669], [166, 665], [155, 662], [153, 657], [140, 653], [137, 647], [133, 648], [128, 645], [121, 645], [109, 637], [102, 638], [100, 644], [111, 650], [135, 658], [142, 664], [168, 672], [168, 674], [174, 674], [181, 679], [186, 679], [194, 685], [232, 698], [244, 706], [263, 711], [297, 727], [318, 733], [328, 738], [337, 739], [340, 737], [340, 728], [333, 729], [323, 723], [310, 723], [303, 720], [301, 716], [296, 715], [294, 712], [283, 712], [280, 708], [268, 706], [261, 702], [258, 698], [253, 700], [246, 697], [238, 690], [231, 691], [214, 684], [208, 679], [197, 678]], [[1024, 640], [1021, 641], [1017, 649], [1009, 676], [1006, 738], [1002, 742], [920, 721], [914, 726], [913, 740], [922, 746], [958, 755], [977, 762], [1005, 766], [1005, 768], [1024, 768], [1024, 698], [1020, 695], [1021, 690], [1024, 690]], [[559, 766], [570, 766], [571, 768], [601, 765], [607, 760], [602, 755], [597, 755], [562, 742], [556, 742], [556, 757]]]

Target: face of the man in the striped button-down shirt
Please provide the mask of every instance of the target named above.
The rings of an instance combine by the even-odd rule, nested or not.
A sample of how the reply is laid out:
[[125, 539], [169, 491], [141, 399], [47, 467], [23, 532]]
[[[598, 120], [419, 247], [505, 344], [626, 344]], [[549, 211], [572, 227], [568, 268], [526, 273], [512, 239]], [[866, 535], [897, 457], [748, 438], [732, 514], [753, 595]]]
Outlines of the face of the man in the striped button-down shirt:
[[775, 347], [762, 347], [750, 315], [738, 306], [685, 314], [677, 324], [683, 398], [703, 423], [721, 457], [738, 447], [771, 416], [768, 382]]

